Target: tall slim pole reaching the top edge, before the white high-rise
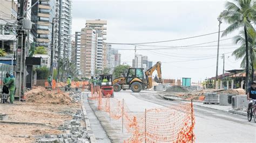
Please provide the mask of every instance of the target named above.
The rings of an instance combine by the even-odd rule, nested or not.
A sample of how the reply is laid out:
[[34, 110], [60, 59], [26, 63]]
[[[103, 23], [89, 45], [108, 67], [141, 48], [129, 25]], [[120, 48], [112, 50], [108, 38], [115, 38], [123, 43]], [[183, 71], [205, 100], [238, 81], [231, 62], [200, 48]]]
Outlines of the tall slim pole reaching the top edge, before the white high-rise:
[[[60, 49], [61, 49], [61, 45], [62, 45], [62, 35], [61, 35], [61, 30], [62, 30], [62, 21], [61, 21], [61, 17], [62, 17], [62, 0], [59, 0], [59, 27], [58, 27], [58, 59], [60, 58]], [[58, 60], [58, 66], [57, 66], [57, 82], [59, 81], [60, 77], [59, 77], [59, 69], [60, 69], [60, 63]]]

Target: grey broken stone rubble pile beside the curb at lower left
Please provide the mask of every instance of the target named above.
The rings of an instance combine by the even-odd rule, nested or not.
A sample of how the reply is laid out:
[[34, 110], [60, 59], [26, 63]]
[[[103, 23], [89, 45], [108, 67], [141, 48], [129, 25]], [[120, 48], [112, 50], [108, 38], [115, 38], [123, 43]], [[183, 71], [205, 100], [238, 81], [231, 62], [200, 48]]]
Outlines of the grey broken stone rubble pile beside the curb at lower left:
[[89, 143], [90, 133], [82, 125], [83, 115], [81, 110], [78, 110], [73, 119], [65, 121], [64, 125], [59, 126], [59, 130], [65, 132], [64, 134], [45, 135], [38, 138], [36, 142], [39, 143], [55, 143], [55, 142], [84, 142]]

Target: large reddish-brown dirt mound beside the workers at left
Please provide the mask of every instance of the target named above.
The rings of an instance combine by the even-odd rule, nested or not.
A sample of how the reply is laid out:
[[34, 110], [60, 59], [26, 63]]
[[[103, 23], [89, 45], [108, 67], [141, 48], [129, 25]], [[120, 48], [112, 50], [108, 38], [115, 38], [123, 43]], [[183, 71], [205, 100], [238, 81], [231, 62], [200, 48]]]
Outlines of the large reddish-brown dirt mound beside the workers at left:
[[51, 91], [45, 90], [43, 87], [32, 89], [25, 93], [26, 102], [39, 104], [65, 104], [70, 105], [75, 103], [70, 98], [69, 94], [60, 93], [54, 94]]

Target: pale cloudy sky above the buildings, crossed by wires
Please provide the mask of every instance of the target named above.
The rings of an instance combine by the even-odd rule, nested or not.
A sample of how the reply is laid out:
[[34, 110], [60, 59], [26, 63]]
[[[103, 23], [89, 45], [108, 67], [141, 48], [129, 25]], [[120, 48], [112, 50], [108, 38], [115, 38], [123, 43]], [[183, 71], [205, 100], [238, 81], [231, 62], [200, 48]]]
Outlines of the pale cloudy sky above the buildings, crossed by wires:
[[[200, 82], [216, 74], [219, 25], [217, 18], [220, 12], [225, 10], [225, 2], [74, 0], [72, 33], [75, 34], [76, 31], [84, 28], [85, 20], [102, 19], [107, 20], [106, 42], [138, 43], [174, 40], [137, 46], [137, 54], [147, 55], [153, 64], [161, 61], [163, 78], [177, 80], [191, 77], [192, 82]], [[225, 30], [227, 26], [228, 24], [223, 21], [220, 31]], [[231, 55], [239, 47], [232, 39], [237, 33], [220, 37], [219, 75], [223, 73], [224, 61], [221, 58], [223, 54], [225, 70], [240, 69], [241, 60], [235, 60]], [[209, 35], [184, 39], [204, 34]], [[210, 43], [203, 44], [206, 42]], [[133, 45], [112, 45], [112, 47], [119, 49], [121, 63], [132, 65]]]

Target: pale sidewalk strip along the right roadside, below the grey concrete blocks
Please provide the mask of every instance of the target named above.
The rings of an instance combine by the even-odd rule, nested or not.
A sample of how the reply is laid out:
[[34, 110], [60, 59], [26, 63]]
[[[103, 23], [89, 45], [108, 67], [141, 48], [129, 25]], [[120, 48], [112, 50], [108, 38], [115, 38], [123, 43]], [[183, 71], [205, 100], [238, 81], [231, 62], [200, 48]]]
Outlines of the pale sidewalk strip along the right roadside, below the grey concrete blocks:
[[[184, 101], [177, 99], [177, 98], [172, 98], [172, 97], [167, 97], [164, 95], [159, 95], [161, 98], [166, 99], [166, 100], [170, 100], [170, 101], [180, 101], [183, 103], [190, 103], [190, 101]], [[210, 108], [210, 109], [215, 109], [215, 110], [220, 110], [220, 111], [225, 111], [225, 112], [230, 112], [230, 113], [235, 113], [238, 115], [243, 115], [243, 116], [247, 116], [246, 112], [242, 112], [242, 111], [236, 111], [232, 108], [232, 106], [221, 106], [219, 104], [204, 104], [203, 102], [197, 102], [197, 101], [193, 101], [193, 105], [197, 105], [197, 106], [202, 106], [205, 108]]]

